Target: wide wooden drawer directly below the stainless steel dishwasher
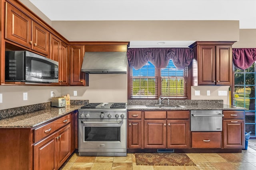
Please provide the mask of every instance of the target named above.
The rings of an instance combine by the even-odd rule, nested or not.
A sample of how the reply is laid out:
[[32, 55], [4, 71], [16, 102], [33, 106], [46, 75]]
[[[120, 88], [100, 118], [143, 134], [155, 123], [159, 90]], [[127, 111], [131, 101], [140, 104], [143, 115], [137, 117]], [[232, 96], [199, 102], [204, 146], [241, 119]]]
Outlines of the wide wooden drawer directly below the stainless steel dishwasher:
[[192, 148], [220, 148], [220, 132], [192, 132]]

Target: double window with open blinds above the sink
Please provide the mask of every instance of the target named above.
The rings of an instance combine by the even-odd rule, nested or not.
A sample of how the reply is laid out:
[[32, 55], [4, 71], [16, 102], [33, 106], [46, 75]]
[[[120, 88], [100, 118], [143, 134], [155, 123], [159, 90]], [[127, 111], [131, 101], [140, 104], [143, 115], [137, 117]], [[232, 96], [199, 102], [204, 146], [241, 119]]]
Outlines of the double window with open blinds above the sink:
[[130, 68], [130, 99], [156, 99], [160, 95], [170, 98], [188, 98], [188, 69], [178, 70], [172, 60], [164, 69], [148, 62], [142, 68]]

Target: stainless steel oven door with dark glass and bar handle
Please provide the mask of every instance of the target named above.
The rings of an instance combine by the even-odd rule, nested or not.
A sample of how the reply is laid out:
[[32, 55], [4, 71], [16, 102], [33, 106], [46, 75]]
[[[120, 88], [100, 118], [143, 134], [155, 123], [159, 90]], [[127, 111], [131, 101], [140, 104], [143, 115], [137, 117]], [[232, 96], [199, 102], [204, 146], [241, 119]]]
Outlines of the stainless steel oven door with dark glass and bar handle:
[[78, 149], [126, 149], [126, 119], [78, 121]]

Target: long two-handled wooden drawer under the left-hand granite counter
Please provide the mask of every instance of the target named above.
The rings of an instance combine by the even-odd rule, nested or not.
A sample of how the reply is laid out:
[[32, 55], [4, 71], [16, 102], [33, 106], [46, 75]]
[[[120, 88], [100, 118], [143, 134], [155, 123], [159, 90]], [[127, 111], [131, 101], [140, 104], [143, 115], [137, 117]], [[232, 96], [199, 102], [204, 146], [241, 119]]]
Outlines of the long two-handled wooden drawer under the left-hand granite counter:
[[34, 129], [34, 143], [70, 122], [70, 114]]

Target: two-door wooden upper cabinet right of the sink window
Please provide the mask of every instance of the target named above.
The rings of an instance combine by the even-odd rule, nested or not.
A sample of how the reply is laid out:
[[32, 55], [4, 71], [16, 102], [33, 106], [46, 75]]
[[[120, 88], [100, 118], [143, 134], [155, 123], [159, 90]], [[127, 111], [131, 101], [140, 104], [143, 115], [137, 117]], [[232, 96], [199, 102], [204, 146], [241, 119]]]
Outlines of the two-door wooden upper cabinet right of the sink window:
[[[225, 85], [232, 86], [232, 42], [197, 41], [190, 45], [194, 49], [192, 85]], [[197, 82], [197, 83], [196, 83]]]

